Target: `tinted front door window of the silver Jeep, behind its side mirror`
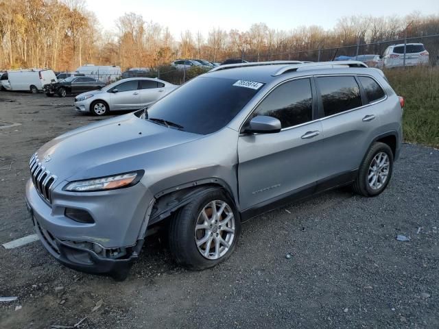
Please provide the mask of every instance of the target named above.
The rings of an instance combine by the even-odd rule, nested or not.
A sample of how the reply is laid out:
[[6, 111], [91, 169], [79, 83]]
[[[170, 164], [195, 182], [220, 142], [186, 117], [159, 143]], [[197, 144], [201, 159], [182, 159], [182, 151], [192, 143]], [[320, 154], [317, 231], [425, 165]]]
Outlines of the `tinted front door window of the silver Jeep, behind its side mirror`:
[[311, 121], [312, 112], [311, 81], [299, 79], [274, 89], [253, 112], [252, 117], [274, 117], [281, 121], [282, 128], [287, 128]]

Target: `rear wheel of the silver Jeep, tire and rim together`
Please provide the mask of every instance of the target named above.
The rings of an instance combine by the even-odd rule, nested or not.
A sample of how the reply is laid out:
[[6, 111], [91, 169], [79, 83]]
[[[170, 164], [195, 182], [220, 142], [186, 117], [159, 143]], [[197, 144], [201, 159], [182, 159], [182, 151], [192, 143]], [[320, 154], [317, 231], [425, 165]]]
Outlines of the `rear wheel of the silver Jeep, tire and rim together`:
[[392, 149], [387, 144], [375, 143], [370, 147], [359, 167], [357, 178], [353, 183], [353, 191], [364, 197], [375, 197], [388, 186], [392, 172]]

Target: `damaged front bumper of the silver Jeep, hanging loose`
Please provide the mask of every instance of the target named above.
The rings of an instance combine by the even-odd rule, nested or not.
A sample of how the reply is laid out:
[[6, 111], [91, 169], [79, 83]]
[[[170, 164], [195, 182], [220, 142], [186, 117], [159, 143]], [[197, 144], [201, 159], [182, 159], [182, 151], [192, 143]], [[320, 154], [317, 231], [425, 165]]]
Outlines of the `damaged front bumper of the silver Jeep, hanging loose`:
[[[90, 210], [95, 219], [95, 223], [90, 224], [78, 223], [66, 217], [63, 208], [69, 203], [63, 201], [61, 197], [54, 201], [54, 204], [49, 205], [38, 195], [32, 181], [29, 181], [26, 187], [26, 206], [29, 217], [32, 219], [41, 243], [56, 260], [78, 271], [106, 274], [116, 280], [126, 278], [143, 246], [153, 204], [153, 199], [150, 199], [148, 193], [140, 199], [150, 199], [150, 206], [146, 202], [143, 210], [138, 208], [132, 213], [121, 207], [121, 213], [112, 212], [116, 218], [108, 213], [109, 206], [106, 205], [104, 199], [115, 203], [113, 198], [117, 199], [116, 193], [127, 193], [127, 191], [117, 190], [112, 193], [103, 193], [104, 196], [99, 196], [99, 204], [95, 206], [95, 209]], [[134, 194], [137, 194], [136, 186], [132, 187], [134, 187]], [[121, 204], [130, 207], [128, 203], [123, 203], [123, 195], [121, 199]], [[69, 201], [71, 204], [72, 199]], [[136, 207], [132, 205], [130, 208], [132, 210]], [[104, 212], [104, 209], [107, 211]], [[122, 217], [122, 212], [126, 215], [125, 218]], [[142, 212], [142, 218], [138, 218]], [[112, 239], [104, 239], [103, 236], [99, 239], [98, 232], [106, 236], [112, 236], [112, 234], [114, 236]], [[93, 234], [94, 238], [89, 236], [90, 239], [84, 239], [84, 234]]]

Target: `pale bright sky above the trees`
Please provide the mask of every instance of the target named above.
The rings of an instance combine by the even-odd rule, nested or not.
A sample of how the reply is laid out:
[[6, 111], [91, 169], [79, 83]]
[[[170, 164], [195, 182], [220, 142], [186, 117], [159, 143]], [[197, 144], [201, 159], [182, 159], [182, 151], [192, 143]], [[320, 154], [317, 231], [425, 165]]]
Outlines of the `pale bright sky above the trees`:
[[204, 36], [212, 27], [245, 31], [260, 22], [283, 30], [300, 25], [330, 29], [342, 16], [404, 16], [414, 10], [439, 14], [439, 0], [86, 0], [86, 8], [96, 14], [104, 29], [115, 30], [117, 17], [135, 12], [145, 21], [169, 27], [178, 39], [186, 29]]

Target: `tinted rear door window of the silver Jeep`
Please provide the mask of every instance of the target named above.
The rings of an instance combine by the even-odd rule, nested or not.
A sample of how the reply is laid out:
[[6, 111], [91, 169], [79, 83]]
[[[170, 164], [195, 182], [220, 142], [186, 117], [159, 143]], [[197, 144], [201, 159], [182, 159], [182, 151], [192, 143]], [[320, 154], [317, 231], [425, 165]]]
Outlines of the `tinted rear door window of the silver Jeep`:
[[324, 117], [362, 106], [359, 86], [353, 76], [318, 77]]

